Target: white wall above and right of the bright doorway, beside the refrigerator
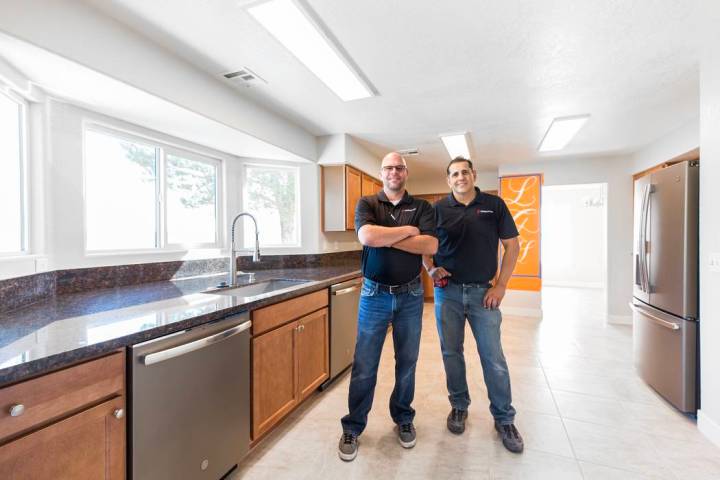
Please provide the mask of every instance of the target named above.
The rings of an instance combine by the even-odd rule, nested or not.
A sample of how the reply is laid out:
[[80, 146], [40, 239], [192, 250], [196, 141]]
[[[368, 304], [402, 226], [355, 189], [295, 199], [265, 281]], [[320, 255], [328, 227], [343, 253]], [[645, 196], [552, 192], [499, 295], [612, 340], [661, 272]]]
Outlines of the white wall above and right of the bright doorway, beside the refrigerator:
[[[607, 294], [611, 322], [629, 323], [632, 297], [632, 175], [627, 156], [503, 165], [499, 175], [542, 173], [545, 185], [607, 184]], [[542, 248], [542, 246], [541, 246]]]

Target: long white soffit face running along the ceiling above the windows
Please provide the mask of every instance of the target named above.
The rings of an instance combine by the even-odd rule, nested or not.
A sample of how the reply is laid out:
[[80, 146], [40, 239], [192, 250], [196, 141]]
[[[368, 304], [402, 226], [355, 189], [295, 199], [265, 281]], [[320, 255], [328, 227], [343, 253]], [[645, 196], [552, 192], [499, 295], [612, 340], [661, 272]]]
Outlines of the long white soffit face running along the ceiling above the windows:
[[0, 2], [0, 31], [302, 158], [317, 159], [309, 132], [80, 1]]

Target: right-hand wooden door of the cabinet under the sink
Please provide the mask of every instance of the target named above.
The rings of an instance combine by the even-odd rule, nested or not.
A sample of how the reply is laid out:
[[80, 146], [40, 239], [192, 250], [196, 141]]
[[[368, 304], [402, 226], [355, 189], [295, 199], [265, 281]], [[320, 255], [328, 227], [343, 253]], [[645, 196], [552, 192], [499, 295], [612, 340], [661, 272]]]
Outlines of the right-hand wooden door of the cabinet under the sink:
[[328, 309], [300, 318], [297, 339], [298, 389], [302, 401], [330, 375]]

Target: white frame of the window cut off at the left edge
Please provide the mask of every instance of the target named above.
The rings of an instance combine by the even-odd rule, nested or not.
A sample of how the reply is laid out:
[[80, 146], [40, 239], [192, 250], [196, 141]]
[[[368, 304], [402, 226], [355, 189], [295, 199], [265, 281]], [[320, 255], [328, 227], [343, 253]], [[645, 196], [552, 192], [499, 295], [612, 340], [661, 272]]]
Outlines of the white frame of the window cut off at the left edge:
[[20, 136], [20, 250], [0, 252], [0, 258], [24, 257], [30, 255], [29, 238], [29, 179], [28, 179], [28, 110], [27, 100], [13, 92], [4, 83], [0, 82], [0, 95], [4, 95], [11, 102], [18, 105], [19, 136]]

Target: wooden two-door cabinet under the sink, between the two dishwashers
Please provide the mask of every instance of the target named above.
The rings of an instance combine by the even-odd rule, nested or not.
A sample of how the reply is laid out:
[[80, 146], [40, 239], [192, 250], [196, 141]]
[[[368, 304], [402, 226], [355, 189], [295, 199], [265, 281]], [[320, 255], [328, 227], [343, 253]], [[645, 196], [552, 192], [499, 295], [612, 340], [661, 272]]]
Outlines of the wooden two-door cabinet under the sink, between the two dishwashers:
[[328, 379], [327, 304], [321, 290], [252, 313], [253, 441]]

